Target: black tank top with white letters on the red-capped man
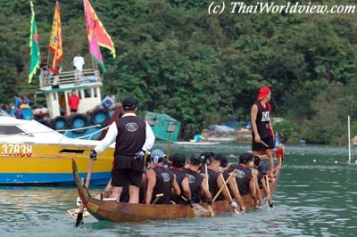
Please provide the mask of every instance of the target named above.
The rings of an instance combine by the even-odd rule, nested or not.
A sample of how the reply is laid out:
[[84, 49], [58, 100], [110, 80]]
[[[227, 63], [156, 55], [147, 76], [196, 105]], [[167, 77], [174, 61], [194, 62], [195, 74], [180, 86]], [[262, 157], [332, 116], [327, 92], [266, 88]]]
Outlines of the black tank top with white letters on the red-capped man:
[[[261, 136], [261, 138], [268, 138], [272, 136], [271, 129], [270, 129], [270, 112], [271, 112], [270, 103], [267, 102], [265, 108], [262, 106], [262, 102], [255, 102], [254, 104], [258, 107], [258, 113], [255, 119], [255, 124], [257, 126], [258, 134]], [[255, 135], [253, 133], [253, 138], [254, 137]]]

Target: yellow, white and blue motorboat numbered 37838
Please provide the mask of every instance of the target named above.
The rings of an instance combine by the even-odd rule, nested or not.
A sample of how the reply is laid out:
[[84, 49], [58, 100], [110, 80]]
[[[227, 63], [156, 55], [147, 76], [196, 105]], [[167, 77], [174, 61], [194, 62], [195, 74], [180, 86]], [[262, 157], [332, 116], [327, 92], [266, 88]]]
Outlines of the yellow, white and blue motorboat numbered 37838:
[[[100, 143], [68, 138], [35, 120], [0, 116], [0, 184], [73, 184], [71, 158], [87, 173], [89, 152]], [[99, 154], [91, 184], [107, 184], [113, 147]]]

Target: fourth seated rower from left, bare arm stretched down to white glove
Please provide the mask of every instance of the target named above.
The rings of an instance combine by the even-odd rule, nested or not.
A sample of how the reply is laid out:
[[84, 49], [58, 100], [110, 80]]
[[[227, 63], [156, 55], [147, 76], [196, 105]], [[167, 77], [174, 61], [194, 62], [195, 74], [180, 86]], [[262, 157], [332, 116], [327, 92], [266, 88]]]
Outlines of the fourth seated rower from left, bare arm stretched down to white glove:
[[[201, 168], [201, 176], [208, 179], [209, 190], [212, 197], [215, 197], [225, 182], [224, 178], [219, 174], [220, 159], [212, 152], [203, 152], [201, 155], [203, 155], [206, 162], [204, 165], [207, 165], [207, 176], [205, 174], [205, 168]], [[228, 200], [232, 208], [238, 208], [237, 203], [230, 198], [226, 188], [220, 192], [217, 200]]]

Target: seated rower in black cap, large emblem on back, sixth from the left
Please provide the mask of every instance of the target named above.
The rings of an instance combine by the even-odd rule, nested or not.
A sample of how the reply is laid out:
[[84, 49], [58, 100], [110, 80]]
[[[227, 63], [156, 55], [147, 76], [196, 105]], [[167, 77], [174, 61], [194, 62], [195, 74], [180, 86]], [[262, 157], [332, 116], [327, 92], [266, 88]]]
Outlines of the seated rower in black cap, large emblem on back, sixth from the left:
[[[239, 164], [230, 164], [228, 167], [228, 172], [232, 172], [234, 169], [237, 169], [237, 174], [235, 176], [239, 193], [244, 196], [251, 194], [251, 196], [259, 203], [257, 205], [262, 206], [262, 195], [256, 192], [259, 187], [256, 184], [256, 177], [253, 178], [253, 172], [251, 169], [251, 163], [253, 162], [252, 153], [243, 153], [239, 156]], [[260, 195], [260, 196], [259, 196]]]

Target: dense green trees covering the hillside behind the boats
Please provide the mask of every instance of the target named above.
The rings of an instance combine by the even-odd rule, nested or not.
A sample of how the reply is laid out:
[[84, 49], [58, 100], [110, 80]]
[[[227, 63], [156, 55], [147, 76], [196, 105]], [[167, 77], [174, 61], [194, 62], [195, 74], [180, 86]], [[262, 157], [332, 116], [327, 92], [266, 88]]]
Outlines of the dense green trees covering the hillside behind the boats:
[[[54, 3], [34, 1], [42, 59]], [[355, 14], [209, 15], [211, 1], [195, 0], [91, 3], [118, 55], [112, 59], [102, 50], [104, 94], [133, 95], [141, 110], [179, 119], [189, 136], [212, 123], [249, 119], [259, 88], [270, 86], [273, 113], [294, 124], [292, 136], [346, 141], [347, 115], [357, 118]], [[76, 52], [90, 67], [82, 1], [60, 6], [63, 68], [72, 69]], [[29, 19], [29, 1], [1, 1], [0, 102], [12, 102], [14, 92], [36, 92], [36, 83], [27, 85]]]

